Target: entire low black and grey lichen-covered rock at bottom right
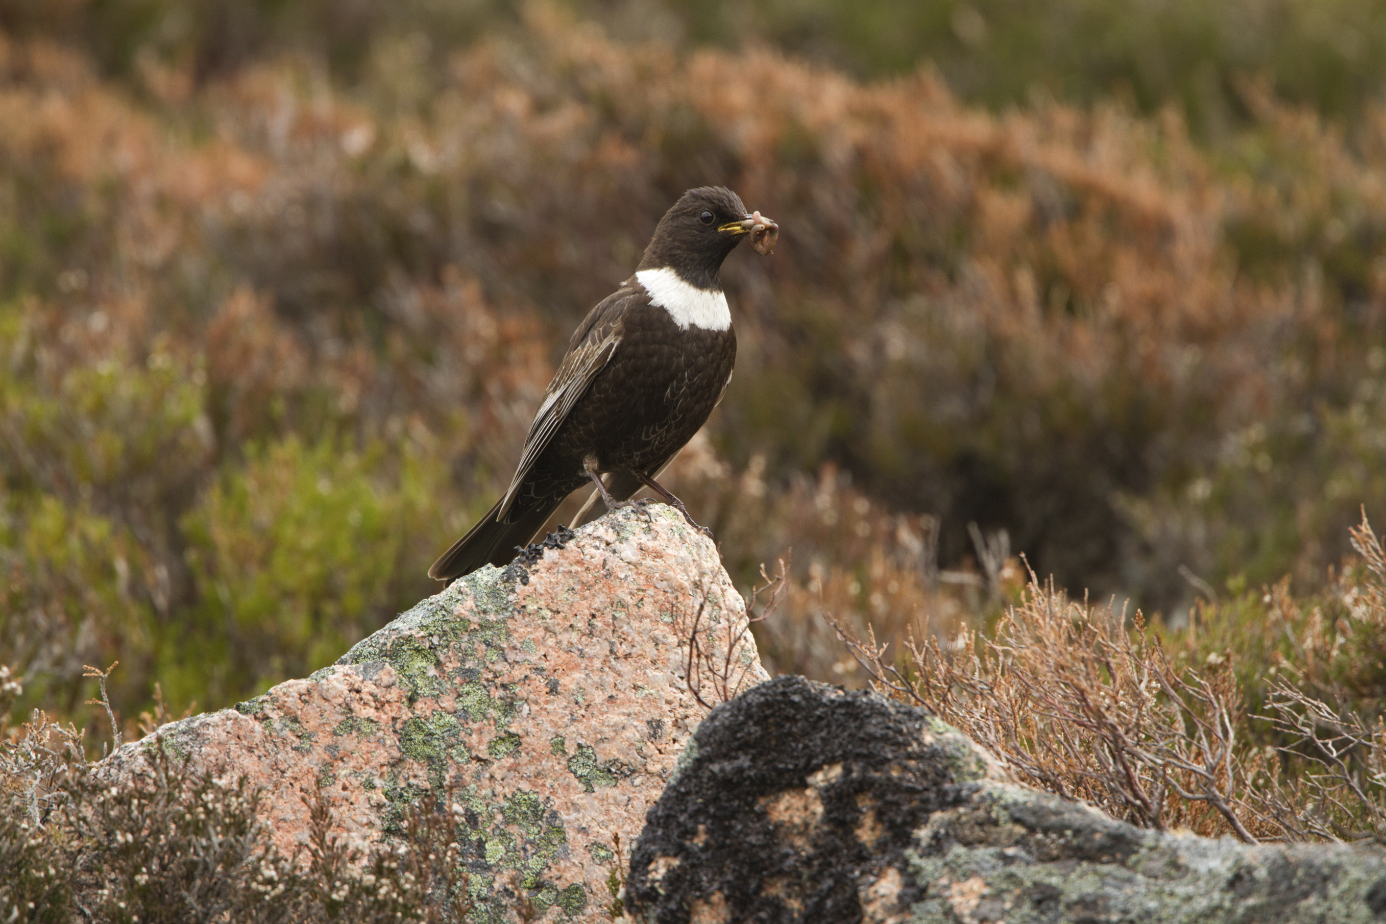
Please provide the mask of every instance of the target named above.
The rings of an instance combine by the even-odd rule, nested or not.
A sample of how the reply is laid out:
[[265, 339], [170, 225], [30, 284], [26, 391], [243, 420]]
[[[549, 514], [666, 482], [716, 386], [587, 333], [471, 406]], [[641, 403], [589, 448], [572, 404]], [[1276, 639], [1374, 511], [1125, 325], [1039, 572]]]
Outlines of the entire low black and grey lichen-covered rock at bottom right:
[[689, 752], [632, 855], [646, 924], [1386, 920], [1380, 849], [1135, 828], [1016, 785], [869, 693], [779, 677], [715, 709]]

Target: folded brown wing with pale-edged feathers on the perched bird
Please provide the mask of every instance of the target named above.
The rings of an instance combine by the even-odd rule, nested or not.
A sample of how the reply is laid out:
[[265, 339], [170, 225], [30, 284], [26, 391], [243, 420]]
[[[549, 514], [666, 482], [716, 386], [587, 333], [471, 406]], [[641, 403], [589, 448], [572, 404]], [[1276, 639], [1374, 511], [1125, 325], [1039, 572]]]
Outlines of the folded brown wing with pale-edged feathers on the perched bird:
[[621, 323], [625, 314], [624, 309], [632, 298], [638, 296], [636, 290], [622, 287], [593, 308], [572, 334], [568, 352], [564, 353], [563, 363], [559, 364], [559, 371], [553, 374], [553, 381], [549, 382], [549, 391], [543, 395], [539, 413], [534, 416], [529, 435], [524, 441], [524, 453], [520, 456], [520, 465], [510, 481], [510, 489], [500, 500], [500, 510], [496, 514], [498, 519], [502, 519], [510, 510], [510, 504], [514, 503], [525, 475], [534, 468], [535, 461], [538, 461], [539, 456], [549, 446], [553, 435], [559, 432], [563, 421], [568, 418], [568, 411], [572, 410], [572, 406], [588, 391], [588, 385], [592, 384], [597, 373], [611, 362], [611, 356], [621, 344], [624, 332]]

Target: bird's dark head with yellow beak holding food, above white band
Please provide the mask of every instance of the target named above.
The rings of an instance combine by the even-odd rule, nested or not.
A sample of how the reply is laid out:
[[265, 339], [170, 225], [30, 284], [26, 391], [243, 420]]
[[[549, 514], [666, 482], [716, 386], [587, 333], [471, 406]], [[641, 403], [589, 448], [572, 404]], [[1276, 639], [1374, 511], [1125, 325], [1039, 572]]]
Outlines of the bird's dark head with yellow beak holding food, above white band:
[[775, 249], [779, 226], [760, 212], [747, 212], [742, 198], [721, 186], [685, 193], [654, 229], [638, 269], [675, 270], [699, 288], [718, 288], [718, 270], [742, 238], [761, 254]]

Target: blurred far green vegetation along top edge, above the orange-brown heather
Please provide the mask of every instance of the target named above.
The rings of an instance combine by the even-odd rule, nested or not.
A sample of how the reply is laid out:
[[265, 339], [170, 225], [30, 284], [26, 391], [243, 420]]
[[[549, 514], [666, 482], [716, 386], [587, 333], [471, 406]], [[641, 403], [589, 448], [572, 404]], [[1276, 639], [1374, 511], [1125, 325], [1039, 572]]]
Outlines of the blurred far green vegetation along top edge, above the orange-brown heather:
[[[559, 0], [621, 42], [690, 48], [772, 46], [858, 78], [920, 62], [960, 98], [1003, 108], [1035, 94], [1153, 112], [1177, 103], [1195, 134], [1222, 139], [1254, 107], [1238, 83], [1265, 78], [1296, 104], [1356, 118], [1386, 80], [1386, 15], [1374, 0]], [[346, 79], [369, 72], [381, 37], [442, 48], [507, 30], [523, 7], [498, 0], [236, 3], [116, 0], [0, 6], [0, 25], [79, 46], [103, 75], [176, 64], [213, 79], [286, 50], [310, 50]]]

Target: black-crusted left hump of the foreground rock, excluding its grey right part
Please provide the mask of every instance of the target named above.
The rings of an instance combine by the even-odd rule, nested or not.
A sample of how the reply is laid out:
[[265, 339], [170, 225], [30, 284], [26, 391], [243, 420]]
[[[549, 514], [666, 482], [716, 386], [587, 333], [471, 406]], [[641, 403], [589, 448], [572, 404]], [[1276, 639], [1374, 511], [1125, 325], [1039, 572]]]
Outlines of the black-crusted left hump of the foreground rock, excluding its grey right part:
[[779, 677], [699, 727], [636, 844], [631, 903], [650, 921], [712, 910], [861, 921], [859, 884], [904, 874], [915, 831], [965, 805], [985, 770], [962, 736], [918, 709]]

